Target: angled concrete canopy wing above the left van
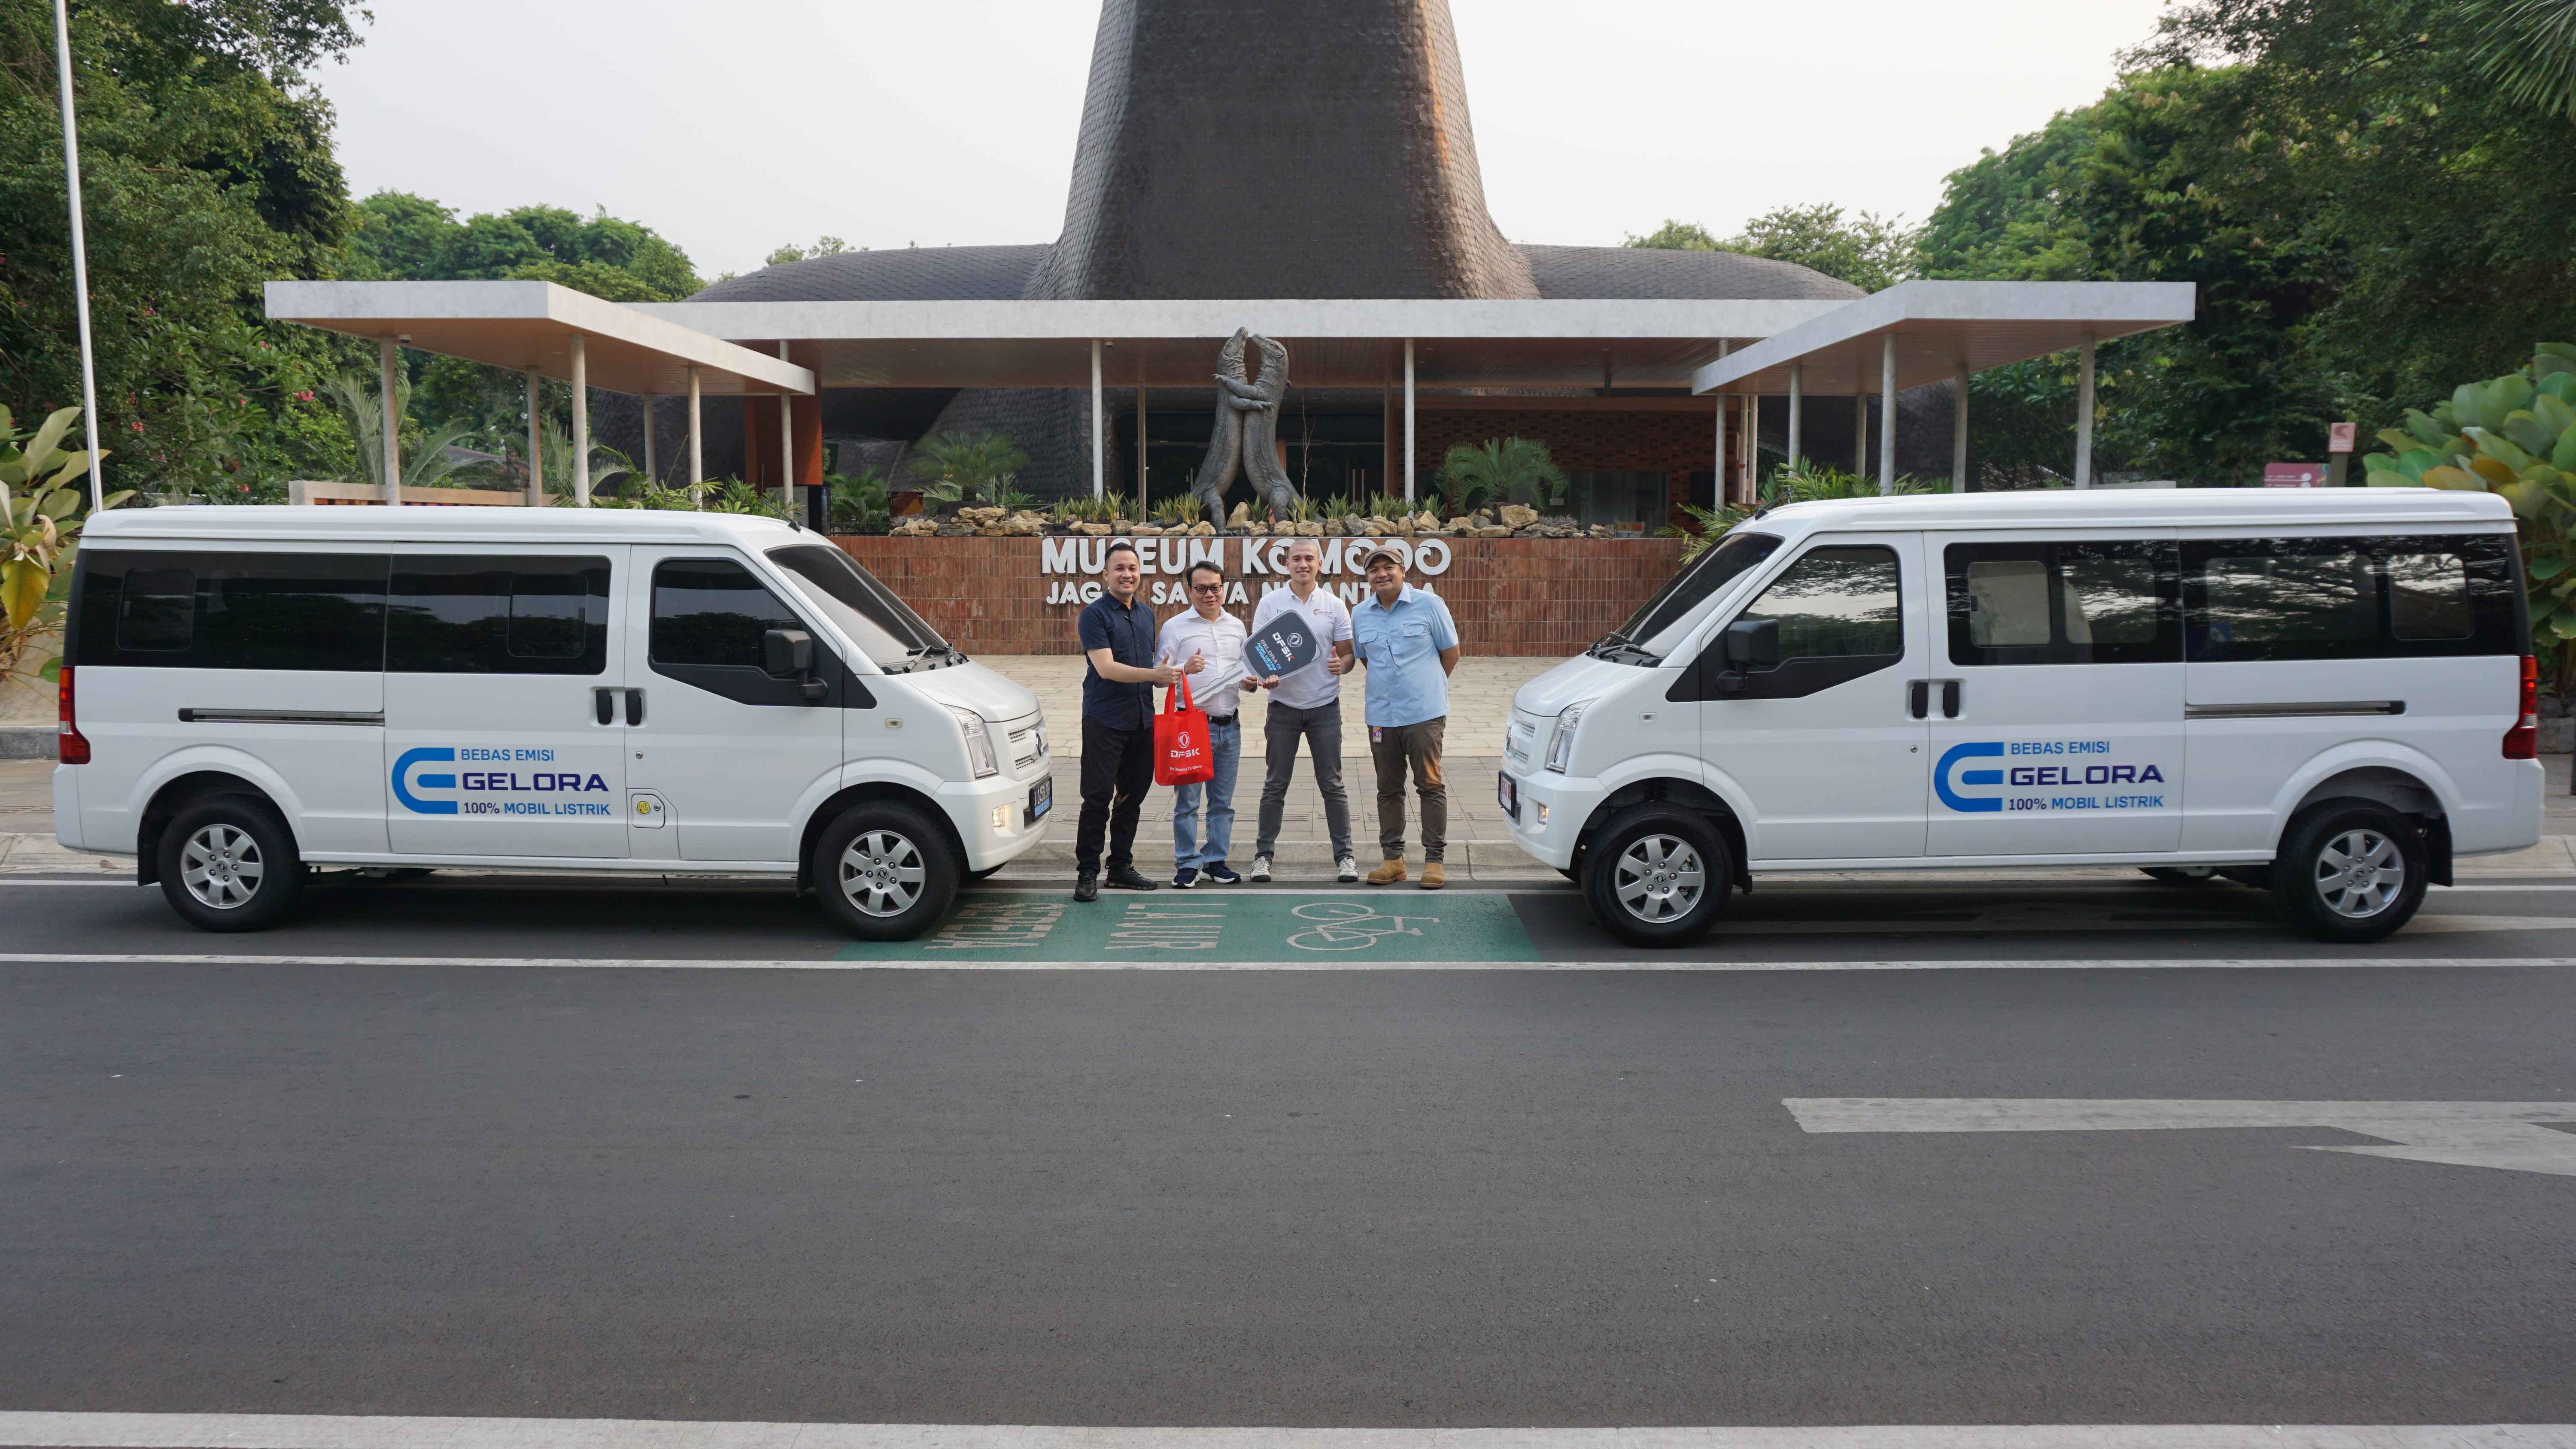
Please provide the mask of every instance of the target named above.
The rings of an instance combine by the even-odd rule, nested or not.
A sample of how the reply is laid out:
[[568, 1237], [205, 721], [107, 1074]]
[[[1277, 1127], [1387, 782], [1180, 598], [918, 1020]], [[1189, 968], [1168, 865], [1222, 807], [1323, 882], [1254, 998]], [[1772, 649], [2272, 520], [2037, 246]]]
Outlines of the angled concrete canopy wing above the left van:
[[587, 381], [623, 394], [814, 394], [814, 373], [551, 281], [273, 281], [268, 317], [350, 337], [572, 381], [582, 337]]

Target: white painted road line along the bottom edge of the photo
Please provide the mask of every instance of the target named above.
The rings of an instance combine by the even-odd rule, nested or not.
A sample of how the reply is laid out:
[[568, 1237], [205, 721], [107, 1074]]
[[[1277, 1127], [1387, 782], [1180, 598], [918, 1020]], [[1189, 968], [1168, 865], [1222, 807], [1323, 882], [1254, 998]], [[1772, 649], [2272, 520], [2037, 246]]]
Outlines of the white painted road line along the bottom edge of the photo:
[[0, 1413], [77, 1449], [2571, 1449], [2576, 1423], [1886, 1423], [1852, 1428], [1077, 1428], [330, 1413]]

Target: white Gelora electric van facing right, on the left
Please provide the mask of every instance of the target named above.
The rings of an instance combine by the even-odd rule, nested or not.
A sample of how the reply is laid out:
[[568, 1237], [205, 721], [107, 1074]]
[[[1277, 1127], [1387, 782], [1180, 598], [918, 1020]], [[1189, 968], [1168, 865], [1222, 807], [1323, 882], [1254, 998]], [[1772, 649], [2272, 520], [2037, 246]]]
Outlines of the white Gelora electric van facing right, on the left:
[[778, 875], [902, 939], [1054, 806], [1038, 700], [765, 517], [106, 512], [64, 661], [57, 839], [211, 932], [348, 865]]

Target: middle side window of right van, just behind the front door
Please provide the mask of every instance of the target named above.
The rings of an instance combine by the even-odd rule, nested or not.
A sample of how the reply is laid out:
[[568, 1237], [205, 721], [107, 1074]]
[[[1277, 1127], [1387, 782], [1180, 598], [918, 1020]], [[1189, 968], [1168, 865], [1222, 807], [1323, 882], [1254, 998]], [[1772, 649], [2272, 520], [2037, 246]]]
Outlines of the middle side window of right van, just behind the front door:
[[1942, 569], [1950, 664], [2182, 661], [2172, 543], [1953, 543]]

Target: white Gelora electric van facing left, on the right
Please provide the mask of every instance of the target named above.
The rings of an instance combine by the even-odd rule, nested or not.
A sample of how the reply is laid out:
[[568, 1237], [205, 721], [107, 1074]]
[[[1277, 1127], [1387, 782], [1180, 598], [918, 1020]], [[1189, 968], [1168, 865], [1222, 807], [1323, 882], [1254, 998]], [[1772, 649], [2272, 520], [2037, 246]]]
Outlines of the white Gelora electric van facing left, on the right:
[[2504, 499], [1932, 494], [1777, 507], [1528, 682], [1512, 836], [1638, 945], [1780, 870], [2138, 865], [2367, 942], [2540, 842]]

